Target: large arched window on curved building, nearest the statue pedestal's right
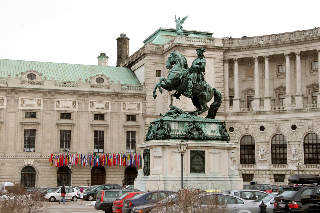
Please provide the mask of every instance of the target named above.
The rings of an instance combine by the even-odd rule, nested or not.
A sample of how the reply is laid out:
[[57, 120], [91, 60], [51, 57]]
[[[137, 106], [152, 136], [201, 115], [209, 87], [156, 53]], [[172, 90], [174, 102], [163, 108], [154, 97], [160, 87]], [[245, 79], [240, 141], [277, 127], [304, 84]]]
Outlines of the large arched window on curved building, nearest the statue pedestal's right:
[[251, 135], [245, 135], [240, 140], [240, 164], [255, 164], [255, 143]]

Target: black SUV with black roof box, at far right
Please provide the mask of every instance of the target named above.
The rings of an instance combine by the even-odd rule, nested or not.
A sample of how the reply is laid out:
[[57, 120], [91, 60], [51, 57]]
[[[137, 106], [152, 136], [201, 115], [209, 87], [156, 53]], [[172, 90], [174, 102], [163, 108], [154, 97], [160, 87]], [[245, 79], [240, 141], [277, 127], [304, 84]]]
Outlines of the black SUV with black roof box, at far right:
[[275, 196], [275, 209], [273, 212], [320, 212], [320, 183], [319, 176], [292, 175], [289, 183], [316, 185], [299, 185], [284, 187]]

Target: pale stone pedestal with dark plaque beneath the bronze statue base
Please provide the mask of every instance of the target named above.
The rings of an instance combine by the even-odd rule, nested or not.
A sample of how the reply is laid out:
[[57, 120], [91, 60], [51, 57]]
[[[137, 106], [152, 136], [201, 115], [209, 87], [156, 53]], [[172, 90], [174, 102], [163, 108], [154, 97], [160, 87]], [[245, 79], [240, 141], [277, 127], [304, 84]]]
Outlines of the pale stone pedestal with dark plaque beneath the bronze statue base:
[[[184, 187], [219, 190], [243, 187], [242, 178], [232, 163], [237, 147], [235, 143], [214, 140], [184, 141], [188, 144], [183, 158]], [[180, 139], [150, 140], [138, 145], [142, 150], [149, 149], [150, 170], [148, 176], [143, 175], [145, 170], [144, 172], [139, 170], [134, 188], [141, 190], [181, 188], [181, 155], [176, 146], [179, 142]]]

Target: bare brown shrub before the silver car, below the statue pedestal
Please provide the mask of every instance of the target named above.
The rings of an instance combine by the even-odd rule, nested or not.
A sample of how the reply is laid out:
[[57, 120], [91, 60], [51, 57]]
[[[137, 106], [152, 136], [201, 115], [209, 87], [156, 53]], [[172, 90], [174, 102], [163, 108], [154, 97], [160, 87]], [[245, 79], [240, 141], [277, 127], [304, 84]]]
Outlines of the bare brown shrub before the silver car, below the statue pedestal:
[[152, 213], [227, 213], [228, 206], [215, 193], [202, 192], [196, 188], [180, 189], [177, 196], [168, 198], [152, 205]]

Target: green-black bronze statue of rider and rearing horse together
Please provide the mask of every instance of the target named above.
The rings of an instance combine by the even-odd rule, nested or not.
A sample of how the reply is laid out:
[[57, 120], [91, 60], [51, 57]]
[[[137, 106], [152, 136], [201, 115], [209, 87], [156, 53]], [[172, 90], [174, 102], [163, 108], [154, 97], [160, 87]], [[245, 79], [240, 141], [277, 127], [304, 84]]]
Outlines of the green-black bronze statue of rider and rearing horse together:
[[[167, 78], [160, 77], [159, 82], [153, 90], [153, 97], [156, 99], [156, 89], [162, 94], [163, 89], [167, 91], [175, 90], [173, 94], [176, 99], [182, 95], [191, 98], [196, 111], [190, 112], [191, 115], [199, 115], [208, 111], [205, 118], [215, 119], [217, 111], [222, 103], [222, 94], [220, 91], [212, 88], [209, 83], [204, 81], [205, 72], [205, 49], [197, 48], [197, 58], [193, 60], [192, 65], [188, 68], [186, 58], [178, 52], [170, 52], [166, 67], [169, 72]], [[174, 65], [174, 66], [173, 66]], [[214, 101], [210, 105], [207, 102]]]

